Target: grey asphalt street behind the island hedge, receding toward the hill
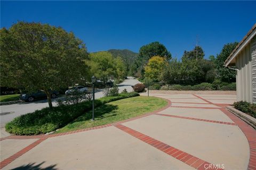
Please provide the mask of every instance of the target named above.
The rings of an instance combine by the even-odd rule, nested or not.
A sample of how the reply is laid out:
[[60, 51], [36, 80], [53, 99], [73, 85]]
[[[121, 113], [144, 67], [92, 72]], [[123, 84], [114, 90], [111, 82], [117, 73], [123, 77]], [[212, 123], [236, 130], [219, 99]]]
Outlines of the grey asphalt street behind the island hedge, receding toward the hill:
[[[139, 81], [137, 79], [133, 79], [132, 77], [128, 77], [123, 83], [118, 85], [119, 92], [126, 89], [128, 92], [133, 91], [131, 85], [137, 84]], [[102, 90], [98, 90], [95, 92], [95, 98], [103, 97]], [[56, 99], [53, 99], [53, 106], [57, 105]], [[10, 122], [14, 117], [17, 117], [22, 114], [31, 113], [35, 110], [42, 109], [44, 107], [48, 107], [47, 100], [37, 100], [31, 103], [19, 103], [13, 105], [3, 105], [0, 106], [0, 125], [1, 129], [5, 126], [7, 122]]]

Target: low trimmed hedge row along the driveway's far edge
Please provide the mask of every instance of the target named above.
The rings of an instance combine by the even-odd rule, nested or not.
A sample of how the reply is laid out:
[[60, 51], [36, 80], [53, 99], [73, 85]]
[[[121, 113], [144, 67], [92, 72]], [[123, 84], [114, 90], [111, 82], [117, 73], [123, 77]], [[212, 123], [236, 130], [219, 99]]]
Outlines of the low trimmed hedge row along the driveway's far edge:
[[[149, 87], [151, 90], [159, 90], [159, 85], [153, 84], [153, 86]], [[194, 86], [182, 86], [179, 84], [171, 85], [171, 86], [163, 86], [161, 90], [217, 90], [215, 84], [211, 83], [201, 83]], [[220, 86], [219, 90], [236, 90], [236, 83], [226, 83]]]

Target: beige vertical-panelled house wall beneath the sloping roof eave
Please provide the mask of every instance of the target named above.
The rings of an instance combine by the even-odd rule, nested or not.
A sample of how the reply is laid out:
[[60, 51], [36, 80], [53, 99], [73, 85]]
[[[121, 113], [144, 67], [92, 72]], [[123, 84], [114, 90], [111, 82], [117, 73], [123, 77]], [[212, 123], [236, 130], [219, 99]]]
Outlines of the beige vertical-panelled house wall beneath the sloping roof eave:
[[252, 41], [236, 57], [237, 101], [253, 102], [252, 95]]

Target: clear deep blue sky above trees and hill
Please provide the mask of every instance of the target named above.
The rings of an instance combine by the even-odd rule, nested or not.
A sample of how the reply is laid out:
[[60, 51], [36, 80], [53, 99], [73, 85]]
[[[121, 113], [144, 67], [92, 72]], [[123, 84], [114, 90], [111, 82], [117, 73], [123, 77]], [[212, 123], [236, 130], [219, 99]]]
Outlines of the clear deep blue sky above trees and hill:
[[180, 58], [199, 45], [205, 58], [240, 41], [256, 22], [247, 1], [1, 1], [1, 28], [17, 21], [60, 26], [82, 39], [89, 52], [130, 49], [159, 41]]

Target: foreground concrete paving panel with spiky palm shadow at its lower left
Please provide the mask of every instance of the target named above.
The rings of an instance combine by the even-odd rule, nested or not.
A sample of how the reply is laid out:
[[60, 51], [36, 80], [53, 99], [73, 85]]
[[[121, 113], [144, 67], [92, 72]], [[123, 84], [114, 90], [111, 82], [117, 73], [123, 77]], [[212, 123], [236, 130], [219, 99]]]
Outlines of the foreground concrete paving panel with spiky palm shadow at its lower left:
[[114, 126], [49, 138], [3, 169], [29, 163], [58, 169], [193, 169]]

